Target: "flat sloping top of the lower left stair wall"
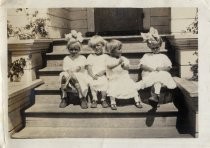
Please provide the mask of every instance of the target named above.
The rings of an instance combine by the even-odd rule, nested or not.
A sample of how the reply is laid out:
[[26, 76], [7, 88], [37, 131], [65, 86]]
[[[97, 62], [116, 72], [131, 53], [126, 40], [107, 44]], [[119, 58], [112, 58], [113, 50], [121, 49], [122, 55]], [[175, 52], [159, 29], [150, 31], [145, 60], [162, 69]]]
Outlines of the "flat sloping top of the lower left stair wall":
[[43, 84], [41, 79], [34, 80], [32, 82], [9, 82], [8, 84], [8, 96], [12, 98], [20, 93], [35, 88], [36, 86]]

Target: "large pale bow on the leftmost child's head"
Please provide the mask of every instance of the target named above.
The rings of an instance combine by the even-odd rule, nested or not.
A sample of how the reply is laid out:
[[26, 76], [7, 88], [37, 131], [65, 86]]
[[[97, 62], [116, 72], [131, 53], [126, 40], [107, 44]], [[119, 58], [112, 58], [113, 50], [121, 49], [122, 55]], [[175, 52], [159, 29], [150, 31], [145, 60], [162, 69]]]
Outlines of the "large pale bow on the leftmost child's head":
[[80, 42], [82, 43], [83, 37], [81, 32], [77, 32], [76, 30], [71, 30], [71, 33], [65, 34], [65, 38], [68, 42]]

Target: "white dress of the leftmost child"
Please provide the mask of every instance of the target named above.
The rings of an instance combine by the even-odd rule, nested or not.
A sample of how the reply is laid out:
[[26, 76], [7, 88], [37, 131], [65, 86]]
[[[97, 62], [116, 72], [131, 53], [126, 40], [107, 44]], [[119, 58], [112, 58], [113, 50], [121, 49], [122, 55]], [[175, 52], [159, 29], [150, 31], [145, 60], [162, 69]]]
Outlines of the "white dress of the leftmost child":
[[[81, 70], [79, 72], [76, 72], [76, 68], [78, 66], [81, 67]], [[85, 69], [85, 66], [86, 66], [86, 58], [83, 55], [79, 55], [77, 58], [73, 60], [69, 56], [66, 56], [63, 60], [63, 72], [60, 73], [60, 80], [63, 76], [65, 78], [69, 77], [67, 70], [72, 71], [80, 84], [82, 93], [84, 95], [87, 95], [88, 79], [87, 79], [87, 71]]]

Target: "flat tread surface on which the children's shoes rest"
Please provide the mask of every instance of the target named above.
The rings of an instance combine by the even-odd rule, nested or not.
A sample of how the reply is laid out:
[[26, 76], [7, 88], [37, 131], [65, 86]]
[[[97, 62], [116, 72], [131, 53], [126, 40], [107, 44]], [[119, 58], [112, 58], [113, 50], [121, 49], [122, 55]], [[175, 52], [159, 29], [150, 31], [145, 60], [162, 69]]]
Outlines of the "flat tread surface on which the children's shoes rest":
[[[143, 103], [142, 103], [143, 104]], [[90, 104], [88, 104], [90, 106]], [[68, 107], [59, 108], [59, 104], [34, 104], [32, 107], [28, 108], [25, 113], [73, 113], [73, 114], [104, 114], [104, 113], [112, 113], [112, 114], [127, 114], [127, 113], [147, 113], [151, 106], [148, 104], [143, 104], [143, 108], [136, 108], [134, 105], [126, 105], [119, 106], [116, 111], [111, 110], [111, 108], [102, 108], [100, 104], [98, 104], [97, 108], [88, 108], [81, 109], [80, 105], [72, 105], [70, 104]], [[177, 108], [173, 103], [162, 104], [156, 111], [156, 113], [175, 113], [177, 112]]]

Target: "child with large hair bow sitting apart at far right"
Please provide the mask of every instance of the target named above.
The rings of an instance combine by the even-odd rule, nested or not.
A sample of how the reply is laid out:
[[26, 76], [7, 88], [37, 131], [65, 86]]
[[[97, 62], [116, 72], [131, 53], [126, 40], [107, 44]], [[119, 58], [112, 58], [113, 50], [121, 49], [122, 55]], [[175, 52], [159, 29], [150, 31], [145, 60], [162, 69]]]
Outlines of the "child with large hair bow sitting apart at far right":
[[140, 68], [143, 70], [142, 81], [137, 84], [141, 89], [152, 87], [149, 101], [158, 104], [162, 87], [176, 88], [176, 83], [169, 73], [172, 63], [166, 55], [159, 53], [162, 39], [156, 29], [151, 27], [149, 33], [142, 33], [141, 35], [152, 53], [146, 53], [140, 59]]

